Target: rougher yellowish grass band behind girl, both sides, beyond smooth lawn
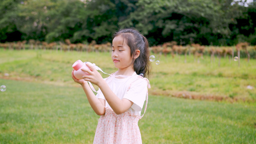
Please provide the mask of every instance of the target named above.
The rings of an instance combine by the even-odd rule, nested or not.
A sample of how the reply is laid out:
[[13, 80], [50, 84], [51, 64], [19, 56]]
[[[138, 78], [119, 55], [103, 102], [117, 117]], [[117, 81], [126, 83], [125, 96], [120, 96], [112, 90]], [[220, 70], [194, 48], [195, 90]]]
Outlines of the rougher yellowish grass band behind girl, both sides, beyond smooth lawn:
[[[215, 96], [256, 100], [256, 60], [237, 61], [210, 57], [198, 63], [193, 56], [155, 55], [160, 64], [152, 62], [151, 91], [157, 95], [176, 96], [186, 93], [193, 96]], [[96, 63], [104, 72], [115, 72], [110, 53], [63, 52], [56, 50], [4, 50], [0, 49], [0, 78], [40, 81], [74, 85], [71, 78], [72, 64], [76, 60]], [[9, 73], [9, 76], [4, 76]], [[103, 77], [108, 75], [102, 74]], [[253, 89], [247, 89], [248, 85]]]

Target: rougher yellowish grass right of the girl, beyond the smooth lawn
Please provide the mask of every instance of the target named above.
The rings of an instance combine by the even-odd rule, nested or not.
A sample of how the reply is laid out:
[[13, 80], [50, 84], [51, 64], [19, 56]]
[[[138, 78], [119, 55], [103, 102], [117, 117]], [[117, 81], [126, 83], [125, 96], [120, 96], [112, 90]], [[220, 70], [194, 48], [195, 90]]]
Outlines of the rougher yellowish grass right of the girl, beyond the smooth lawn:
[[[221, 97], [237, 97], [256, 99], [256, 60], [248, 63], [241, 60], [238, 67], [237, 61], [228, 58], [211, 62], [210, 57], [204, 57], [200, 63], [194, 61], [193, 56], [180, 59], [175, 57], [158, 56], [160, 65], [153, 64], [153, 78], [150, 83], [160, 90], [169, 90], [170, 93], [180, 91], [194, 95], [212, 95]], [[247, 89], [251, 85], [254, 89]]]

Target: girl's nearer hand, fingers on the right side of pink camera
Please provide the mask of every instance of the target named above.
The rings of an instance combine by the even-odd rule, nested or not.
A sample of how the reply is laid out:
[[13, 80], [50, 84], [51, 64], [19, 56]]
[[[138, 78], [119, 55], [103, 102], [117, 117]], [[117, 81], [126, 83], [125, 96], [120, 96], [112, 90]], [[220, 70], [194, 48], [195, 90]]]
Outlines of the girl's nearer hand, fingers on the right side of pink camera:
[[84, 75], [82, 77], [85, 81], [91, 82], [96, 85], [104, 81], [100, 73], [97, 70], [95, 70], [95, 68], [92, 65], [90, 65], [89, 63], [85, 63], [85, 64], [91, 69], [91, 71], [87, 69], [81, 69], [82, 71], [88, 72], [90, 74], [90, 75]]

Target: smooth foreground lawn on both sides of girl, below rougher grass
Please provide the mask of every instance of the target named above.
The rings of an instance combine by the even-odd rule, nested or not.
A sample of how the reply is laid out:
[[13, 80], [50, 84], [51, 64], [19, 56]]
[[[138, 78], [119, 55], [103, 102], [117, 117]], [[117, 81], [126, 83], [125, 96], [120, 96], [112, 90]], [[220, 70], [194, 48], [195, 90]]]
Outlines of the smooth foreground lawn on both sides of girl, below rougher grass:
[[[0, 79], [0, 144], [92, 144], [98, 118], [81, 87]], [[256, 104], [149, 96], [144, 144], [256, 144]]]

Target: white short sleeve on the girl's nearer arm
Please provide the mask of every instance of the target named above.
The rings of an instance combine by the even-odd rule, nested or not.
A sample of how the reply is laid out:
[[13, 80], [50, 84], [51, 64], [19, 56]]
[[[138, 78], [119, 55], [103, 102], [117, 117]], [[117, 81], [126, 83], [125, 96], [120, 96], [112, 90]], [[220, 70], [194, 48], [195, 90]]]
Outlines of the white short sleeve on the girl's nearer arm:
[[134, 104], [131, 108], [136, 111], [141, 111], [146, 100], [147, 82], [146, 80], [139, 78], [135, 80], [129, 90], [125, 93], [123, 98], [132, 101]]

